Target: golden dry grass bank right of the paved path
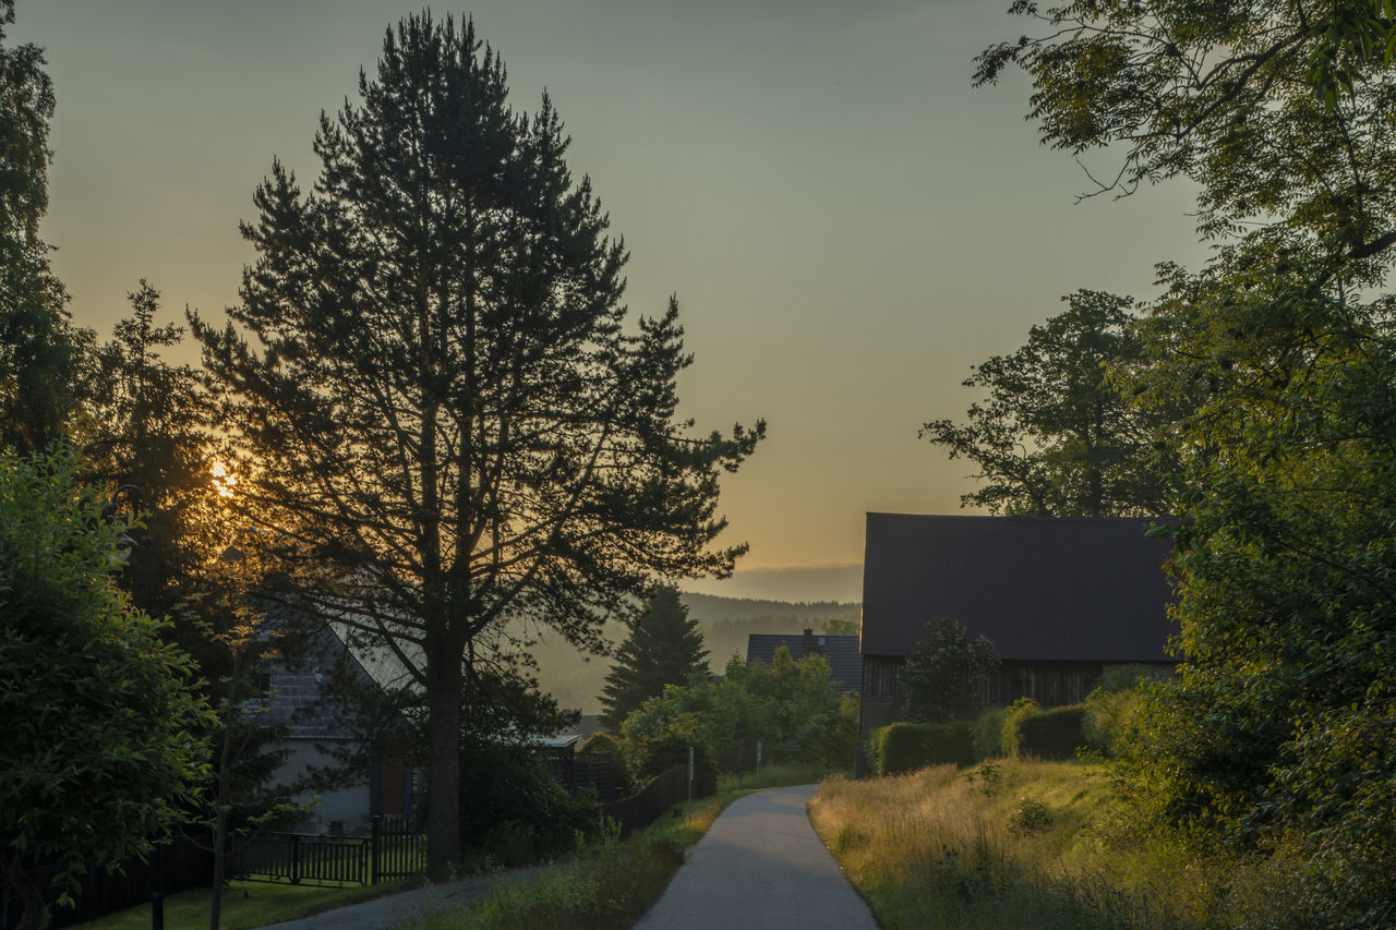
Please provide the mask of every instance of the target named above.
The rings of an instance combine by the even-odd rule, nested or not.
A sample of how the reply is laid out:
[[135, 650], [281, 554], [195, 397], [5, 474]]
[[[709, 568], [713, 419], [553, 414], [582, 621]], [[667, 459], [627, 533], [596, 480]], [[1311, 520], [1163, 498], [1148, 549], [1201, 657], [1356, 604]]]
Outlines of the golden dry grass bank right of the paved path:
[[1284, 923], [1273, 871], [1134, 829], [1099, 765], [835, 776], [811, 820], [885, 930]]

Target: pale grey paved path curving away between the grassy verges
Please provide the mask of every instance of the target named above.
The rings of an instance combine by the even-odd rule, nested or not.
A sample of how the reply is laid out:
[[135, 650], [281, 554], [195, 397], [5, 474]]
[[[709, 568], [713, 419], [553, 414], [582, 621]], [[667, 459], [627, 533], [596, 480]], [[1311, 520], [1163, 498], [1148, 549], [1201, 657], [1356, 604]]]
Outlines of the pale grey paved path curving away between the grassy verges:
[[877, 930], [814, 832], [817, 788], [769, 788], [733, 803], [635, 930]]

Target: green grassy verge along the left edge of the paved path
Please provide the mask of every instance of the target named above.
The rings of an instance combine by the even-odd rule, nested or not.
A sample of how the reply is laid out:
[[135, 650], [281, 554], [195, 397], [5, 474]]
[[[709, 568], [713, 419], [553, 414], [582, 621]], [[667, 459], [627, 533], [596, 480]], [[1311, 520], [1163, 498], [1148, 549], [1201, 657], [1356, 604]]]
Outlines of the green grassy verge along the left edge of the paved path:
[[[678, 804], [630, 839], [584, 849], [567, 867], [532, 884], [503, 885], [472, 908], [444, 910], [399, 930], [613, 930], [649, 910], [718, 814], [752, 789]], [[674, 814], [678, 815], [674, 815]]]

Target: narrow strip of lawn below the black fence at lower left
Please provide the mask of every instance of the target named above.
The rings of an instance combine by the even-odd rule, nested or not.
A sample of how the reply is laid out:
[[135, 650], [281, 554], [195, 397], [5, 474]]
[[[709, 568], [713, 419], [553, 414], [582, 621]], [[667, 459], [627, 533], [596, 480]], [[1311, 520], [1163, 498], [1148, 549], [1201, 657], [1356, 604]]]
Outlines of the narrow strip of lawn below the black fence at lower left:
[[[381, 885], [348, 888], [310, 888], [306, 885], [272, 885], [257, 881], [235, 881], [223, 890], [222, 929], [251, 930], [269, 923], [309, 917], [321, 910], [346, 903], [369, 901], [380, 895], [416, 887], [412, 880], [388, 881]], [[190, 930], [208, 926], [208, 888], [181, 891], [165, 899], [165, 926]], [[109, 913], [96, 920], [77, 924], [75, 930], [149, 930], [151, 905], [140, 905]]]

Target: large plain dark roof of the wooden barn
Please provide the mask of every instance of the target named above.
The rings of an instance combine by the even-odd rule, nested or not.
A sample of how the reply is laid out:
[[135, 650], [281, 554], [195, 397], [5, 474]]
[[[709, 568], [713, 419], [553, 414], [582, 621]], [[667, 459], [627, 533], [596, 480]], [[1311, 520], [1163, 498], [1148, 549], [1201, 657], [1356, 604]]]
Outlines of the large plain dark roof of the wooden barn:
[[1132, 517], [868, 514], [861, 651], [906, 655], [959, 620], [1001, 659], [1167, 660], [1170, 543]]

